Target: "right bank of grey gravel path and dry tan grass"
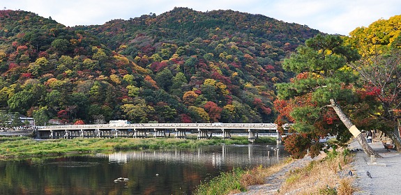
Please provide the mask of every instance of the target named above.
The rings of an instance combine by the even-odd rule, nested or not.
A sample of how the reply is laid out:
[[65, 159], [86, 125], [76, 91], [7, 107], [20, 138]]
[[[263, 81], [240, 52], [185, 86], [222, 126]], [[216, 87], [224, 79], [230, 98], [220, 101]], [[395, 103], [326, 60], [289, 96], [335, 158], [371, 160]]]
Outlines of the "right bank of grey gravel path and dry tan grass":
[[[328, 156], [322, 153], [316, 159], [304, 157], [294, 160], [265, 178], [264, 184], [251, 185], [247, 187], [247, 192], [237, 195], [401, 194], [398, 187], [398, 180], [401, 178], [401, 154], [396, 150], [387, 150], [381, 141], [369, 144], [383, 158], [371, 159], [354, 140], [347, 150], [343, 150], [350, 151], [350, 155], [343, 153], [328, 160]], [[346, 157], [347, 161], [344, 162]]]

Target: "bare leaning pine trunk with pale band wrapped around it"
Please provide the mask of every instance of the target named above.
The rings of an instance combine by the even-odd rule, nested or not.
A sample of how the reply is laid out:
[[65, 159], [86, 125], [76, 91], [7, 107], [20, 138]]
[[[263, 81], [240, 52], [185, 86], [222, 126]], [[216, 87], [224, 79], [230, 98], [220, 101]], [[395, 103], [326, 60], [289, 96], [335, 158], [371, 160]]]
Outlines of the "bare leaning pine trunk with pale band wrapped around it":
[[347, 115], [344, 114], [342, 111], [340, 105], [336, 104], [335, 101], [332, 99], [330, 100], [331, 104], [329, 107], [332, 107], [335, 111], [335, 113], [338, 115], [342, 123], [344, 123], [345, 127], [351, 132], [351, 134], [354, 135], [356, 140], [358, 141], [359, 145], [363, 148], [363, 151], [370, 157], [370, 155], [374, 155], [375, 157], [380, 157], [379, 153], [374, 151], [372, 147], [369, 146], [368, 142], [366, 141], [365, 137], [363, 137], [363, 134], [355, 127], [354, 124], [352, 124], [351, 120], [347, 117]]

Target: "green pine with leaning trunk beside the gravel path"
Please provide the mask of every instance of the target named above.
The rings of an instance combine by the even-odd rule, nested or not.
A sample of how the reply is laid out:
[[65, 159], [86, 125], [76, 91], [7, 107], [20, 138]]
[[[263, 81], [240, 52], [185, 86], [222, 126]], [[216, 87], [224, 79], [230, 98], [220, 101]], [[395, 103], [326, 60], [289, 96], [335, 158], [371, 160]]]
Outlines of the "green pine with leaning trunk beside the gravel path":
[[296, 132], [319, 132], [321, 129], [316, 121], [322, 120], [323, 114], [331, 107], [365, 152], [379, 157], [340, 108], [340, 104], [358, 103], [353, 86], [358, 77], [347, 65], [357, 59], [359, 55], [356, 50], [344, 46], [340, 36], [317, 35], [298, 47], [289, 59], [285, 59], [283, 68], [297, 75], [289, 83], [276, 85], [278, 97], [284, 100], [303, 100], [296, 104], [290, 114], [294, 118], [292, 128]]

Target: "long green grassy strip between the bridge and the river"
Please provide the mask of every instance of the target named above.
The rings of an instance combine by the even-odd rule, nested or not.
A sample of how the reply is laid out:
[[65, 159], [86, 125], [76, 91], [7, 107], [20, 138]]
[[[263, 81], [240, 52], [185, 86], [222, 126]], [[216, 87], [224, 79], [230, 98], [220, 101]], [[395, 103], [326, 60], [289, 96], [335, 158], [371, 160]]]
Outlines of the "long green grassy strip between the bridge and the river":
[[[220, 144], [248, 144], [247, 137], [232, 139], [188, 139], [174, 138], [114, 138], [114, 139], [46, 139], [36, 140], [22, 137], [0, 137], [0, 159], [24, 159], [29, 157], [52, 157], [82, 153], [104, 153], [115, 150], [143, 150], [161, 148], [195, 148]], [[257, 140], [275, 143], [274, 137], [261, 137]]]

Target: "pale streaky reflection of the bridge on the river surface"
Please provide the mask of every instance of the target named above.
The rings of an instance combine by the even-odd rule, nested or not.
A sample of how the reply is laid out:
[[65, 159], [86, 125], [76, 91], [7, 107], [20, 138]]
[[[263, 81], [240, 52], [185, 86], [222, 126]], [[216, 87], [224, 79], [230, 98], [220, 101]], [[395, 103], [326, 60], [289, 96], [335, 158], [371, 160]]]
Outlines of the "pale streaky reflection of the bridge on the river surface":
[[[275, 164], [282, 157], [282, 152], [277, 147], [265, 146], [220, 146], [217, 150], [205, 150], [197, 148], [195, 150], [142, 150], [130, 152], [118, 152], [112, 154], [96, 154], [98, 157], [107, 157], [109, 162], [127, 163], [132, 160], [149, 160], [162, 162], [190, 163], [190, 164], [212, 164], [214, 167], [243, 165], [268, 165]], [[207, 148], [207, 147], [206, 147]], [[285, 153], [285, 152], [284, 152]]]

